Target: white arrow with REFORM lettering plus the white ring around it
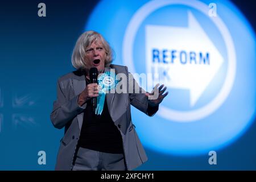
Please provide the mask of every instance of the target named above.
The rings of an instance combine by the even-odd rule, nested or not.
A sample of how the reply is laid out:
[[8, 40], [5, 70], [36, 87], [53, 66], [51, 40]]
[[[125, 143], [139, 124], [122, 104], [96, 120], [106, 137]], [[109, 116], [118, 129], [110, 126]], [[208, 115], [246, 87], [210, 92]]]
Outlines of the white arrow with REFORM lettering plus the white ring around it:
[[[125, 54], [123, 60], [126, 64], [134, 64], [132, 57], [129, 56], [133, 55], [133, 48], [131, 46], [134, 43], [131, 41], [134, 41], [135, 30], [139, 29], [143, 20], [146, 19], [147, 16], [150, 16], [155, 10], [168, 5], [176, 5], [177, 3], [191, 6], [199, 10], [205, 16], [208, 16], [208, 6], [201, 2], [148, 2], [137, 11], [127, 28], [125, 42], [123, 43], [123, 54]], [[144, 25], [146, 72], [153, 73], [153, 75], [154, 73], [158, 73], [160, 82], [163, 82], [171, 89], [185, 89], [189, 92], [189, 108], [186, 111], [171, 109], [171, 106], [160, 107], [158, 114], [171, 121], [196, 121], [218, 109], [225, 101], [225, 98], [232, 88], [236, 72], [236, 56], [228, 28], [226, 28], [220, 18], [211, 19], [207, 17], [209, 21], [216, 24], [217, 28], [222, 31], [225, 46], [229, 49], [229, 55], [226, 57], [226, 61], [229, 61], [229, 69], [227, 69], [228, 75], [226, 75], [226, 78], [221, 78], [226, 81], [223, 83], [222, 89], [220, 89], [217, 96], [212, 98], [212, 102], [209, 100], [208, 103], [205, 103], [205, 105], [201, 106], [199, 109], [193, 108], [214, 76], [216, 76], [217, 72], [220, 70], [224, 58], [191, 11], [188, 10], [185, 13], [187, 14], [187, 26], [185, 27], [159, 26], [146, 23]], [[158, 18], [155, 18], [153, 15], [151, 19], [153, 19], [152, 22], [156, 22]], [[128, 53], [126, 53], [125, 50], [129, 50], [130, 52], [127, 51]], [[151, 81], [148, 82], [150, 83]], [[182, 104], [180, 103], [180, 105]]]

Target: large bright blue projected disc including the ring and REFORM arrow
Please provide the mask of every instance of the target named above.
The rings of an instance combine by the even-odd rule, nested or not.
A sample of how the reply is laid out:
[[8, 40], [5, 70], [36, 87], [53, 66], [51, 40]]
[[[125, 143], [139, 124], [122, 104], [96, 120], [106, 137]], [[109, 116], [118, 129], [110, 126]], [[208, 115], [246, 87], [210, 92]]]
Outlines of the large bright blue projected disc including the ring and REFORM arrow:
[[[86, 24], [85, 30], [96, 30], [110, 42], [114, 64], [127, 65], [131, 73], [150, 73], [147, 84], [157, 73], [167, 86], [170, 94], [154, 122], [133, 110], [142, 142], [153, 150], [208, 154], [238, 138], [254, 119], [254, 33], [230, 2], [216, 3], [216, 16], [209, 16], [208, 4], [101, 1]], [[95, 23], [107, 5], [112, 9]]]

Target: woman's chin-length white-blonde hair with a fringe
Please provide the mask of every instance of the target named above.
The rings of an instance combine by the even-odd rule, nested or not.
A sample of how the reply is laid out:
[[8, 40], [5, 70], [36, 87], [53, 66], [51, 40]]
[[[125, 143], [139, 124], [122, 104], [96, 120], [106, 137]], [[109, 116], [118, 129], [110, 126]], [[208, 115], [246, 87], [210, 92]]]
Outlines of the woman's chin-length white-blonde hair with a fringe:
[[103, 38], [101, 34], [96, 31], [86, 31], [80, 35], [77, 39], [76, 46], [73, 49], [72, 53], [72, 65], [76, 69], [85, 69], [87, 68], [85, 59], [85, 48], [90, 46], [94, 41], [100, 41], [106, 52], [105, 67], [108, 67], [113, 61], [113, 51], [109, 46], [109, 43]]

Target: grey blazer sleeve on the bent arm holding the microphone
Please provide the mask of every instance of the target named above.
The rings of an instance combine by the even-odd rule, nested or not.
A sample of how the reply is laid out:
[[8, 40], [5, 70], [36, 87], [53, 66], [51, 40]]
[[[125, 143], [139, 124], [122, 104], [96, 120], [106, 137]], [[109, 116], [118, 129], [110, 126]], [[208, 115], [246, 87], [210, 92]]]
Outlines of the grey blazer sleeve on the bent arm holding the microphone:
[[71, 119], [85, 109], [86, 104], [78, 105], [78, 97], [79, 95], [67, 100], [62, 82], [60, 80], [57, 81], [57, 100], [53, 102], [53, 109], [50, 115], [54, 127], [62, 129]]

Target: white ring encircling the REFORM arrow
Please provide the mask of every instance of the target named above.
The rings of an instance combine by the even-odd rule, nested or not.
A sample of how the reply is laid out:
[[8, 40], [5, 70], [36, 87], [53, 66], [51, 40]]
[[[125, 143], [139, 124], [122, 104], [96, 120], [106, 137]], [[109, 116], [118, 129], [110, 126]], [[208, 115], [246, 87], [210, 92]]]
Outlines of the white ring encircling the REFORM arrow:
[[[190, 6], [208, 16], [208, 5], [196, 0], [154, 0], [146, 3], [131, 18], [125, 32], [125, 38], [123, 40], [123, 61], [126, 65], [130, 66], [129, 69], [131, 73], [135, 73], [135, 67], [133, 64], [133, 43], [139, 26], [141, 25], [143, 20], [147, 18], [147, 16], [150, 15], [153, 11], [168, 5]], [[212, 114], [216, 109], [218, 109], [218, 107], [220, 107], [224, 103], [232, 89], [234, 78], [236, 76], [236, 53], [234, 49], [234, 43], [232, 37], [230, 36], [228, 28], [225, 26], [224, 22], [219, 16], [209, 19], [212, 20], [212, 22], [217, 26], [218, 30], [222, 35], [222, 38], [224, 39], [227, 49], [228, 69], [224, 84], [222, 85], [222, 88], [220, 92], [218, 92], [217, 96], [214, 97], [213, 100], [210, 101], [207, 105], [200, 107], [199, 109], [191, 111], [178, 111], [160, 105], [157, 114], [160, 115], [160, 117], [162, 118], [178, 122], [192, 122], [205, 118], [208, 115]]]

